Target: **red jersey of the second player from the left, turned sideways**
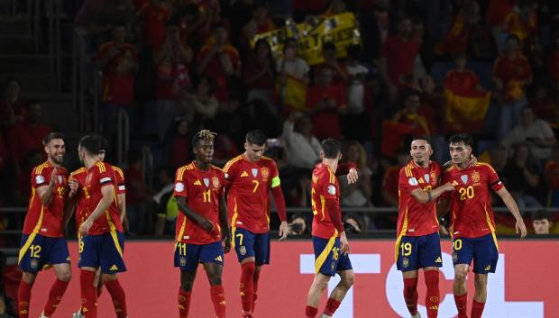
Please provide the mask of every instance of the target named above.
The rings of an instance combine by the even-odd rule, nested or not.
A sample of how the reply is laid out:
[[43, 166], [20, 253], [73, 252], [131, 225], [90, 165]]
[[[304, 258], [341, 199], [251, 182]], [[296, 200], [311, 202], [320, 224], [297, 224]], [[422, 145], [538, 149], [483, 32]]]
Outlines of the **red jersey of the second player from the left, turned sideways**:
[[87, 169], [87, 179], [85, 186], [86, 210], [84, 220], [91, 215], [103, 194], [101, 188], [103, 186], [115, 186], [115, 200], [113, 204], [105, 211], [105, 215], [99, 216], [91, 226], [89, 234], [100, 235], [106, 232], [124, 232], [123, 224], [120, 222], [120, 211], [118, 201], [116, 200], [117, 184], [115, 178], [115, 170], [108, 163], [97, 161], [91, 168]]

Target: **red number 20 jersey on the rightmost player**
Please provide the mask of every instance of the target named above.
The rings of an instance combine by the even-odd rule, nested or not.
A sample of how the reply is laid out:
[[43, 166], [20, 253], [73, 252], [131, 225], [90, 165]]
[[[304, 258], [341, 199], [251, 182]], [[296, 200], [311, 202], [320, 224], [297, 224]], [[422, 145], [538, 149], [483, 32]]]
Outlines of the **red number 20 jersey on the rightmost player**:
[[445, 196], [451, 200], [451, 235], [477, 238], [495, 232], [490, 189], [503, 188], [497, 172], [488, 164], [478, 162], [463, 170], [451, 167], [442, 182], [451, 182], [454, 191]]

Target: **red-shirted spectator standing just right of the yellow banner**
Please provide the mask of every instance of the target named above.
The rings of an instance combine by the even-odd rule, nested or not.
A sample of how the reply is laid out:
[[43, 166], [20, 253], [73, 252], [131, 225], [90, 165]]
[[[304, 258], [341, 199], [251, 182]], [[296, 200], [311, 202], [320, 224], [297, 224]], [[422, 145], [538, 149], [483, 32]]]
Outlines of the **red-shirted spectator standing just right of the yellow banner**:
[[411, 19], [399, 21], [398, 33], [382, 46], [380, 69], [392, 95], [396, 88], [408, 86], [414, 77], [414, 65], [419, 53], [419, 41], [413, 35]]

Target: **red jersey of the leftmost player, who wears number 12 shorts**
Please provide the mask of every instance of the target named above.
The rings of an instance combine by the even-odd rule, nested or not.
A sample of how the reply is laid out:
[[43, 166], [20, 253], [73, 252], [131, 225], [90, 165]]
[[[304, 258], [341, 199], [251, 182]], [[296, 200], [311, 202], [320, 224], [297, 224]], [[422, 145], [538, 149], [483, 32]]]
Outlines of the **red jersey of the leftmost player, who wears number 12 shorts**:
[[23, 223], [23, 234], [35, 232], [51, 238], [63, 236], [64, 204], [68, 197], [68, 170], [63, 167], [56, 168], [54, 195], [52, 195], [49, 205], [43, 205], [37, 193], [38, 187], [49, 186], [53, 168], [49, 161], [46, 161], [32, 170], [31, 198], [25, 215], [25, 223]]

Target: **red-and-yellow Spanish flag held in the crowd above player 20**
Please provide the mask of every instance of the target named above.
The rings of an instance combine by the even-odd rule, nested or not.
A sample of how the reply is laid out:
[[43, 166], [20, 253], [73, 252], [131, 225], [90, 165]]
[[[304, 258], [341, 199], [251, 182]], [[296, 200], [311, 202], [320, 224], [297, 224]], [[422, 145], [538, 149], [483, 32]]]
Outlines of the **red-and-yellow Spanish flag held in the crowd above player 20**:
[[491, 93], [480, 91], [478, 82], [471, 71], [450, 71], [444, 78], [445, 118], [450, 131], [475, 132], [481, 129]]

